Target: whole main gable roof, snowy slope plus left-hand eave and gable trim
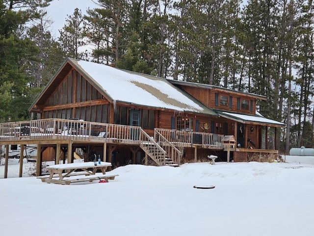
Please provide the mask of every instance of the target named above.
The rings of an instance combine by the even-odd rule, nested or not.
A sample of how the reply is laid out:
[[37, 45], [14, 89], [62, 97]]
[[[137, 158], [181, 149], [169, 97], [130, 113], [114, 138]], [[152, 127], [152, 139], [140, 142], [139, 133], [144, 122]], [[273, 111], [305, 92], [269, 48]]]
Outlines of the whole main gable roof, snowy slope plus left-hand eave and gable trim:
[[44, 105], [73, 67], [110, 102], [218, 116], [212, 109], [207, 108], [166, 79], [76, 59], [67, 59], [62, 64], [29, 110], [35, 110], [35, 105]]

